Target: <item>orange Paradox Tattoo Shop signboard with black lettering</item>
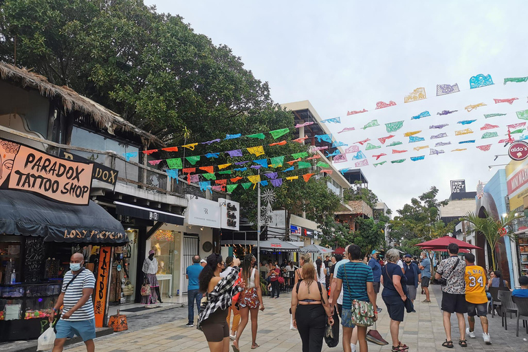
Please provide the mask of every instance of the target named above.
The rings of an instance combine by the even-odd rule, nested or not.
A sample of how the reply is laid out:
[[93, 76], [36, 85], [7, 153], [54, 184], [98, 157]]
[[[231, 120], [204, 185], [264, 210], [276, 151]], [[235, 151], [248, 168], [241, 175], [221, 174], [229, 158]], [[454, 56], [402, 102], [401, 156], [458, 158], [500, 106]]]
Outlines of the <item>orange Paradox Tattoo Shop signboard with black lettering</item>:
[[25, 190], [61, 203], [88, 205], [94, 164], [61, 159], [0, 139], [0, 188]]

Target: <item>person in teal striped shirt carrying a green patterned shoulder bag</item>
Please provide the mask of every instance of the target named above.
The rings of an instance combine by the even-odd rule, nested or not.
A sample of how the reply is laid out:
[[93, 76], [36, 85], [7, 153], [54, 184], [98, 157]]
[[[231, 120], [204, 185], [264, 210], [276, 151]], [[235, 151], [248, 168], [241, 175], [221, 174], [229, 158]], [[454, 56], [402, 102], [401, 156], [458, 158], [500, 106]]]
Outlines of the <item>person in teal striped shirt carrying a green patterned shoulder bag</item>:
[[[341, 325], [343, 326], [343, 351], [351, 352], [351, 338], [354, 327], [358, 328], [358, 342], [360, 351], [367, 352], [369, 347], [366, 344], [366, 326], [354, 325], [355, 321], [360, 320], [360, 307], [366, 306], [367, 311], [372, 311], [373, 321], [377, 320], [376, 294], [374, 292], [374, 277], [369, 265], [363, 263], [361, 249], [359, 245], [349, 245], [347, 253], [349, 262], [338, 267], [336, 273], [337, 285], [332, 292], [332, 302], [337, 299], [343, 289], [343, 305], [341, 315]], [[352, 305], [355, 306], [352, 309]], [[371, 307], [372, 305], [372, 307]], [[333, 312], [332, 312], [333, 313]]]

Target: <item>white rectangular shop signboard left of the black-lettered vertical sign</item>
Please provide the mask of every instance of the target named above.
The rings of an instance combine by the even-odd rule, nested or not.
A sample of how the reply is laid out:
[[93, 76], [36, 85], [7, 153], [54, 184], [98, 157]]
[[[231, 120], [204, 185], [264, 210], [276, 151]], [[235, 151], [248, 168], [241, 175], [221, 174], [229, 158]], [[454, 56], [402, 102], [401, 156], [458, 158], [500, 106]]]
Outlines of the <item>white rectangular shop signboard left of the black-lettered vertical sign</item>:
[[216, 201], [210, 201], [195, 195], [186, 195], [186, 198], [188, 199], [188, 205], [185, 210], [185, 221], [188, 225], [221, 228], [221, 211]]

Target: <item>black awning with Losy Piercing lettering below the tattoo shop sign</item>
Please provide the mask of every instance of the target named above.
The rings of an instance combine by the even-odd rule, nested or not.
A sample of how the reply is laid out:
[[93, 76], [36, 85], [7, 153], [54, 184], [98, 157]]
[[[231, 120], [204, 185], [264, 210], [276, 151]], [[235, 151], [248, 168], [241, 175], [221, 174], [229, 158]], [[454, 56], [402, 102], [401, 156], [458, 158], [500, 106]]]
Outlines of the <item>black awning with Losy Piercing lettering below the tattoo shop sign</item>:
[[0, 190], [0, 234], [42, 236], [47, 242], [129, 241], [121, 223], [93, 201], [74, 206], [19, 190]]

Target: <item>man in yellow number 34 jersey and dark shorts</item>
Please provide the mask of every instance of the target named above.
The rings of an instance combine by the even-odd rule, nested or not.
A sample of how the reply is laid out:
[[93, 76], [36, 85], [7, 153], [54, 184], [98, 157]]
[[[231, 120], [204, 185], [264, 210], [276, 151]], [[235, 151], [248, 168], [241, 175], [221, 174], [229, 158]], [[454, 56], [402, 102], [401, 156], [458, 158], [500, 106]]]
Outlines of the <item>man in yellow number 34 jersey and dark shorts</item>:
[[486, 344], [492, 344], [487, 331], [487, 297], [486, 272], [483, 267], [475, 265], [475, 256], [465, 254], [465, 300], [467, 302], [467, 322], [470, 327], [465, 331], [470, 338], [475, 338], [475, 315], [481, 318], [482, 338]]

